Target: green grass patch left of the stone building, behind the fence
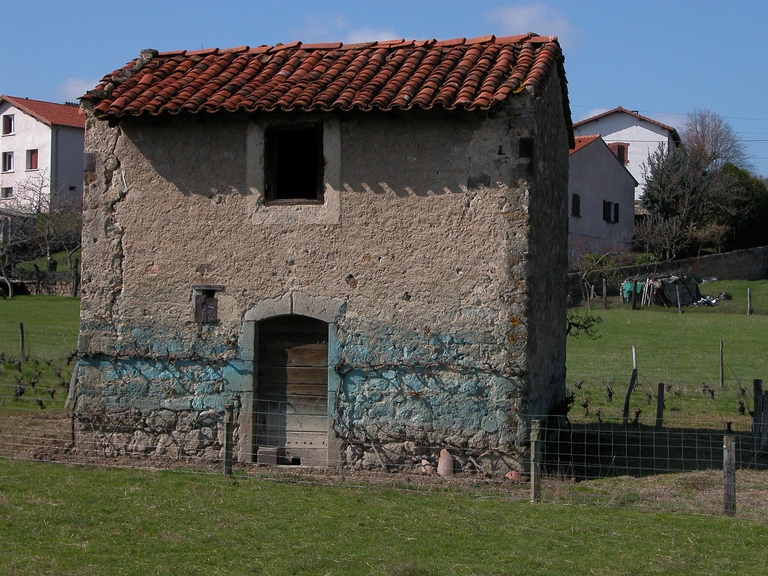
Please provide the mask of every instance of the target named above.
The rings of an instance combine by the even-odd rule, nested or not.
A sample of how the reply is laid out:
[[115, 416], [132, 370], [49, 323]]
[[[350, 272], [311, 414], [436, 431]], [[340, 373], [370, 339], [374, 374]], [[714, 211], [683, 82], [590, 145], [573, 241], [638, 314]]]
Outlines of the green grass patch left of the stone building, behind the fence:
[[[0, 397], [5, 408], [39, 409], [37, 399], [47, 408], [61, 407], [72, 374], [67, 356], [77, 348], [80, 299], [65, 296], [17, 296], [0, 300]], [[22, 358], [19, 324], [26, 340]], [[19, 380], [21, 379], [21, 380]], [[16, 383], [24, 395], [13, 399]], [[32, 383], [34, 382], [34, 386]], [[51, 402], [49, 391], [56, 390]]]

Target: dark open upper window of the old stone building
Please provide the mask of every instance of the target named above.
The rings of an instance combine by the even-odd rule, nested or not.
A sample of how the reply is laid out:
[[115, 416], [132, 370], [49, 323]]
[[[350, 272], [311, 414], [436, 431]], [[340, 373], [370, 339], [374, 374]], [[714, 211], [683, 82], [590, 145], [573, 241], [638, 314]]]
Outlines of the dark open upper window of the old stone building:
[[267, 201], [322, 202], [322, 128], [268, 128], [264, 140]]

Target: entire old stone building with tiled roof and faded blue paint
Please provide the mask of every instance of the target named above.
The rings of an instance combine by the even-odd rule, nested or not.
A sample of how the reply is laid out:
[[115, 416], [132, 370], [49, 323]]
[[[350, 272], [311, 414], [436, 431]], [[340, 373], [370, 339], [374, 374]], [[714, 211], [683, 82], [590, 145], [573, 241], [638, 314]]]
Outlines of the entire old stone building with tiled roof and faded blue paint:
[[[157, 53], [87, 111], [79, 441], [516, 466], [565, 394], [556, 38]], [[480, 460], [478, 460], [480, 458]]]

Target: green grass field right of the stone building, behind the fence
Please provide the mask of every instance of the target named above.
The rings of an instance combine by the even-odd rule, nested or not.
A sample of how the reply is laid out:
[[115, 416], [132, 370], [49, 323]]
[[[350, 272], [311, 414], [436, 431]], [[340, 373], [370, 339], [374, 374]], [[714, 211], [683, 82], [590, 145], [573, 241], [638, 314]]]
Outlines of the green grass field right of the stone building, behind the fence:
[[[746, 315], [747, 286], [752, 289], [755, 313]], [[667, 417], [681, 420], [712, 420], [742, 424], [749, 416], [738, 414], [742, 399], [752, 407], [752, 380], [760, 378], [768, 387], [768, 281], [713, 282], [700, 285], [703, 294], [729, 292], [733, 299], [714, 307], [688, 307], [683, 314], [658, 306], [630, 310], [629, 305], [613, 303], [608, 310], [593, 310], [602, 317], [601, 337], [569, 338], [567, 381], [575, 392], [573, 412], [589, 400], [590, 415], [600, 409], [602, 417], [618, 418], [632, 373], [632, 346], [637, 350], [638, 387], [632, 398], [632, 413], [643, 410], [643, 417], [655, 416], [656, 395], [663, 382], [672, 390], [666, 395]], [[720, 340], [724, 342], [725, 386], [721, 390]], [[581, 390], [576, 381], [584, 381]], [[714, 399], [702, 392], [706, 384]], [[606, 386], [614, 391], [607, 400]], [[739, 396], [739, 386], [746, 389]], [[643, 418], [641, 418], [641, 422]]]

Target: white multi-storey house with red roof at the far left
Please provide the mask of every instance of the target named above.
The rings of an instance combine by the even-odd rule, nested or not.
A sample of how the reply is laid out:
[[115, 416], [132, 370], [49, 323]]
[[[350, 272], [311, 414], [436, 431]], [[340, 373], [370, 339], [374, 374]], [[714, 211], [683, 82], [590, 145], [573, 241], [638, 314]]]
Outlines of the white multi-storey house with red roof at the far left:
[[76, 203], [83, 192], [85, 116], [77, 104], [0, 96], [0, 210]]

